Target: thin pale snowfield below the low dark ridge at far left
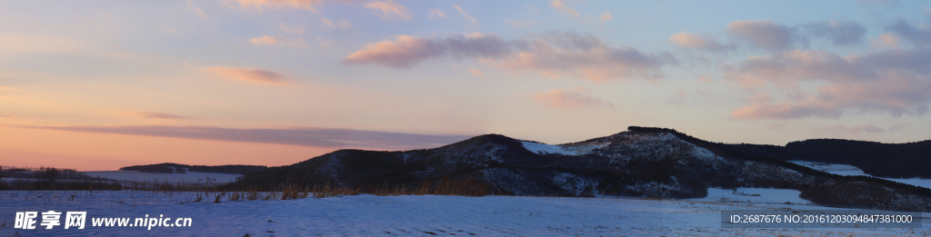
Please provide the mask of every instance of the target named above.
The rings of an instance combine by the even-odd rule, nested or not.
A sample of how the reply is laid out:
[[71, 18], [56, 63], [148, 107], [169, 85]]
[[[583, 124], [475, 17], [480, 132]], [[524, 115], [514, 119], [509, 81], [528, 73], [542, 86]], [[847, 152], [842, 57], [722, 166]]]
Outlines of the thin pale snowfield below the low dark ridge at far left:
[[203, 173], [203, 172], [187, 172], [184, 174], [167, 174], [167, 173], [146, 173], [139, 171], [89, 171], [82, 172], [89, 177], [100, 177], [100, 178], [110, 178], [120, 181], [135, 181], [135, 182], [153, 182], [155, 180], [159, 182], [169, 181], [172, 183], [176, 182], [188, 182], [188, 183], [228, 183], [236, 180], [237, 177], [241, 175], [237, 174], [223, 174], [223, 173]]

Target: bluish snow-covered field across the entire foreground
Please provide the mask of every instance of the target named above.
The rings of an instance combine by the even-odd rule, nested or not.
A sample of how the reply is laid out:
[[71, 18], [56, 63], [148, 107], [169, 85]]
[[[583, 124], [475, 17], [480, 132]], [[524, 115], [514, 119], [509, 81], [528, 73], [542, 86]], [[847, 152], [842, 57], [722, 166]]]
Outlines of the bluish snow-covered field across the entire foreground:
[[[925, 229], [722, 229], [721, 210], [831, 209], [797, 192], [712, 189], [696, 200], [516, 196], [336, 196], [189, 203], [194, 193], [0, 191], [0, 236], [914, 236]], [[752, 196], [752, 194], [761, 194]], [[73, 201], [67, 199], [74, 195]], [[794, 196], [793, 196], [794, 195]], [[739, 198], [737, 196], [740, 196]], [[742, 199], [750, 199], [750, 202]], [[729, 202], [721, 202], [728, 198]], [[740, 201], [740, 203], [733, 203]], [[784, 204], [789, 202], [792, 204]], [[800, 204], [796, 204], [800, 203]], [[85, 230], [14, 230], [15, 212], [88, 211]], [[91, 227], [97, 217], [191, 217], [192, 227]], [[926, 222], [927, 219], [924, 219]], [[2, 224], [6, 222], [6, 225]], [[130, 223], [132, 223], [130, 221]], [[931, 227], [925, 223], [926, 227]]]

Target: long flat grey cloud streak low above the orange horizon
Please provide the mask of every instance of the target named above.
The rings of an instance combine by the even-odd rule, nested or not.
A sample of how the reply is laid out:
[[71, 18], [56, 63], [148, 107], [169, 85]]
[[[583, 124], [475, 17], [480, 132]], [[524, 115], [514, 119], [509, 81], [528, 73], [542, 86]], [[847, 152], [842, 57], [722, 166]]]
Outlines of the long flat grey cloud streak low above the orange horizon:
[[421, 135], [317, 127], [280, 129], [167, 125], [24, 127], [71, 132], [270, 143], [318, 148], [374, 148], [385, 150], [435, 148], [470, 138], [470, 136], [460, 135]]

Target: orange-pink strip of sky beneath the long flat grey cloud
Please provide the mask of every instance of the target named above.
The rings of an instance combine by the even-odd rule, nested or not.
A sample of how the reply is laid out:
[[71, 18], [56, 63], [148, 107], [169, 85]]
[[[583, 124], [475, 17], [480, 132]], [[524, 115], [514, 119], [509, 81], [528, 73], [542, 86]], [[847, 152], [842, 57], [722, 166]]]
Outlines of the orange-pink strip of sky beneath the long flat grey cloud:
[[52, 166], [78, 171], [157, 163], [276, 166], [330, 151], [335, 149], [0, 127], [0, 165], [5, 166]]

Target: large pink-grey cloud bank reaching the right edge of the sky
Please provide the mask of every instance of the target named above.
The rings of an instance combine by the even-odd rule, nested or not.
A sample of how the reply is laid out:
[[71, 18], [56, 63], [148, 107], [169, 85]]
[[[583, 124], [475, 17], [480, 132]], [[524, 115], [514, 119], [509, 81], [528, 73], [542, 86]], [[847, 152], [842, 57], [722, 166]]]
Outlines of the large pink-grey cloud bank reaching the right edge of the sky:
[[[836, 118], [844, 112], [924, 114], [931, 102], [931, 50], [886, 50], [841, 57], [786, 51], [745, 59], [725, 78], [749, 91], [785, 93], [781, 101], [750, 101], [732, 113], [745, 119]], [[809, 85], [814, 90], [804, 90]], [[813, 86], [812, 86], [813, 85]]]

